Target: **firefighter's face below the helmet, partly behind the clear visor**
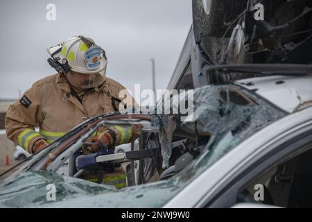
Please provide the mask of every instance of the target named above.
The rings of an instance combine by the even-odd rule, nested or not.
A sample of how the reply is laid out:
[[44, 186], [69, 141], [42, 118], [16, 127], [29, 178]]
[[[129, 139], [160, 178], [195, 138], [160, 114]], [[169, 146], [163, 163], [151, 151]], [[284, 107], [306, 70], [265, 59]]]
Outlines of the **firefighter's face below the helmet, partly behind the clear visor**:
[[100, 74], [80, 74], [76, 71], [70, 71], [67, 78], [71, 85], [78, 89], [89, 89], [103, 83]]

